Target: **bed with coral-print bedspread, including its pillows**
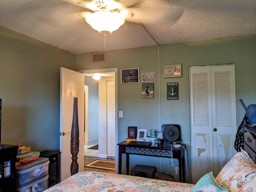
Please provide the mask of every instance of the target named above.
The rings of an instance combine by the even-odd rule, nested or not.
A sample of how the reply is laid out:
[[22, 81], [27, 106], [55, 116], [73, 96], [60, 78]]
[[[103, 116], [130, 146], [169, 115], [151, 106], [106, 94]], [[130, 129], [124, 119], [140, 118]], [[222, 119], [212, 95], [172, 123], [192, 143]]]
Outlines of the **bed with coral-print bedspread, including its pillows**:
[[214, 178], [212, 172], [194, 184], [164, 181], [130, 175], [78, 172], [44, 192], [254, 192], [256, 165], [241, 150]]

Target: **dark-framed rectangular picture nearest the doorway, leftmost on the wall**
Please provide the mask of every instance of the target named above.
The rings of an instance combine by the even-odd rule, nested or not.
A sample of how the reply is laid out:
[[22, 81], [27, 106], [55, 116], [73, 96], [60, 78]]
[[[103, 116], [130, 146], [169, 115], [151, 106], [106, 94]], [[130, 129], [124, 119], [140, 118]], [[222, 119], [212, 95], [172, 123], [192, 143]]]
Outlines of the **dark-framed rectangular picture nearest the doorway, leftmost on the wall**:
[[139, 83], [140, 82], [140, 68], [121, 69], [121, 84]]

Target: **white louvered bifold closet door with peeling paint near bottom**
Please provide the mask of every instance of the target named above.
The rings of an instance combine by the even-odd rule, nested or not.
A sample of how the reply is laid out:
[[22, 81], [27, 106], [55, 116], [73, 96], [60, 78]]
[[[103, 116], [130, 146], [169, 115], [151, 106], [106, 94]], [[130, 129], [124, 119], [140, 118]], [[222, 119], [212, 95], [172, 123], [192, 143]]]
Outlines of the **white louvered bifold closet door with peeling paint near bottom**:
[[192, 182], [217, 176], [235, 154], [234, 65], [190, 68]]

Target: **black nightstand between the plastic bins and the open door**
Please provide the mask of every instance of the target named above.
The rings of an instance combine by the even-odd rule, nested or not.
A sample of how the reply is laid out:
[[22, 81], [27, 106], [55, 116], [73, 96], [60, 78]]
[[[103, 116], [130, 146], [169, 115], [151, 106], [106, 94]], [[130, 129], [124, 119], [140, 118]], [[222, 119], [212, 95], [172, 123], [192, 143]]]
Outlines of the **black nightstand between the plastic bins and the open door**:
[[59, 151], [42, 151], [40, 157], [49, 158], [49, 187], [60, 182], [60, 153]]

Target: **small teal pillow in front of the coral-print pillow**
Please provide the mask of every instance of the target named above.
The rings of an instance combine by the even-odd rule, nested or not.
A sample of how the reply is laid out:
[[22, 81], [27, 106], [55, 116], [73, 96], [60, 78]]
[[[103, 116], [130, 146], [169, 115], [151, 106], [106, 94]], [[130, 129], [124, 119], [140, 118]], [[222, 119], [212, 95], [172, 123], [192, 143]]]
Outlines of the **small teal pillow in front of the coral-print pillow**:
[[205, 174], [200, 178], [196, 185], [190, 190], [190, 192], [227, 192], [223, 189], [214, 179], [212, 172]]

